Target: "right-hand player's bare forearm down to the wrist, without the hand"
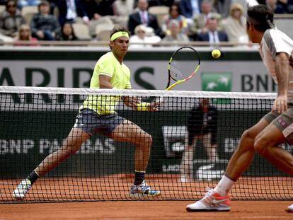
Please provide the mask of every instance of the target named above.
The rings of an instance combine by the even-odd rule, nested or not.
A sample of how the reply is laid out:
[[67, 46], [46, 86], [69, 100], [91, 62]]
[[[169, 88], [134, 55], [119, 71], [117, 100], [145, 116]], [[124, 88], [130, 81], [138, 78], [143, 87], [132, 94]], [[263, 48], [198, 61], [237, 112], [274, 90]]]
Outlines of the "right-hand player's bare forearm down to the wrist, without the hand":
[[277, 92], [287, 95], [289, 83], [289, 59], [284, 54], [276, 57]]

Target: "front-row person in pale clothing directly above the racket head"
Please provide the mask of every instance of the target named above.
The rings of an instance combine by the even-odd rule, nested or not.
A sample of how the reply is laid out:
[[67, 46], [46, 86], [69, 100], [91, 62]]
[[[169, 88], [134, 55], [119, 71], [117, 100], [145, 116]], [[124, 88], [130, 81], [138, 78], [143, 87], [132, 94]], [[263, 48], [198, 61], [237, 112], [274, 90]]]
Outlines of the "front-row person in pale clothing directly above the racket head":
[[163, 42], [189, 42], [188, 36], [180, 31], [180, 23], [173, 19], [168, 23], [170, 34], [163, 37]]

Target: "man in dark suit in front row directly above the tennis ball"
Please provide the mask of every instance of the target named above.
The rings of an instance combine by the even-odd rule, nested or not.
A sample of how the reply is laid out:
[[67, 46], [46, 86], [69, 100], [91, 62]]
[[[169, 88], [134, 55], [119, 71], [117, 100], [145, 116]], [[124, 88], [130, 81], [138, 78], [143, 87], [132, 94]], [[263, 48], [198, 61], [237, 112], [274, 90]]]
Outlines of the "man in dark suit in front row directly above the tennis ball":
[[228, 41], [228, 36], [224, 31], [218, 30], [219, 21], [217, 18], [210, 17], [207, 19], [207, 33], [200, 33], [197, 36], [198, 41], [207, 41], [211, 44], [217, 44], [221, 41]]

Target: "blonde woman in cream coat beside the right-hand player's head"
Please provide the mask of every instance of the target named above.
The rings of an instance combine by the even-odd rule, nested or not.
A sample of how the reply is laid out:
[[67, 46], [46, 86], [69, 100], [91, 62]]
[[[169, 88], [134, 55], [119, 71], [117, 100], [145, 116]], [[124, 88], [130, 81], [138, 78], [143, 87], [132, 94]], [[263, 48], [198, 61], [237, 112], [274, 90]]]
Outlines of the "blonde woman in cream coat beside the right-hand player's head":
[[239, 3], [232, 4], [230, 16], [225, 18], [223, 28], [231, 42], [248, 42], [246, 33], [246, 18], [243, 16], [243, 7]]

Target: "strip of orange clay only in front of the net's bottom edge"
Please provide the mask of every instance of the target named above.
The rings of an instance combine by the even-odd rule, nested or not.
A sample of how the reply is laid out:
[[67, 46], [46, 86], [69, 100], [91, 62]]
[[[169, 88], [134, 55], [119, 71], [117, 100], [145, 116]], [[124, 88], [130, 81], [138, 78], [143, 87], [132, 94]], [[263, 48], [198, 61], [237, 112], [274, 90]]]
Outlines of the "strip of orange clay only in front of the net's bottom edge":
[[292, 201], [233, 201], [230, 212], [186, 212], [191, 201], [0, 204], [0, 219], [293, 219]]

